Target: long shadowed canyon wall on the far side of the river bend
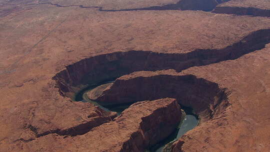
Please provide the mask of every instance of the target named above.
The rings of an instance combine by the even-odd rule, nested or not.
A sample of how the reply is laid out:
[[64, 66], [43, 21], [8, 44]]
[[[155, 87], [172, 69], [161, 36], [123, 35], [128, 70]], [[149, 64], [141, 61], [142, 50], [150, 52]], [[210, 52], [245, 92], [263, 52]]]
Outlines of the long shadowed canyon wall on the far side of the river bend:
[[175, 69], [207, 65], [235, 59], [264, 47], [270, 42], [270, 29], [250, 33], [242, 40], [223, 49], [197, 49], [187, 53], [156, 53], [151, 51], [113, 52], [82, 59], [58, 72], [53, 79], [63, 96], [71, 96], [86, 84], [116, 78], [133, 71]]

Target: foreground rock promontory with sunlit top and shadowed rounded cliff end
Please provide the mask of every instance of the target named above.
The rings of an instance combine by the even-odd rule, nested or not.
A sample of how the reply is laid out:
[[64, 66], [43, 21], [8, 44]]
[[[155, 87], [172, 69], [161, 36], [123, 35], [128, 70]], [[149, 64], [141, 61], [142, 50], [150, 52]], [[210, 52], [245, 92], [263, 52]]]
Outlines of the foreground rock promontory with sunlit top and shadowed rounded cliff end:
[[[136, 102], [113, 121], [83, 135], [66, 138], [42, 136], [28, 142], [25, 147], [28, 151], [34, 151], [36, 145], [42, 143], [42, 151], [144, 151], [168, 136], [180, 119], [181, 109], [176, 99]], [[48, 140], [53, 140], [58, 146], [44, 142]]]

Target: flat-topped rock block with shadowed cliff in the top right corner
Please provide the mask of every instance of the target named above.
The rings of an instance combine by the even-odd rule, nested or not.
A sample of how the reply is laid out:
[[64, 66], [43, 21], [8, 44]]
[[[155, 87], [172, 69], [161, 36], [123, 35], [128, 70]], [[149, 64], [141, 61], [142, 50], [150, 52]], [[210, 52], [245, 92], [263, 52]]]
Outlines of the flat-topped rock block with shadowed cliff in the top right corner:
[[212, 12], [269, 17], [269, 5], [269, 0], [231, 0], [217, 5]]

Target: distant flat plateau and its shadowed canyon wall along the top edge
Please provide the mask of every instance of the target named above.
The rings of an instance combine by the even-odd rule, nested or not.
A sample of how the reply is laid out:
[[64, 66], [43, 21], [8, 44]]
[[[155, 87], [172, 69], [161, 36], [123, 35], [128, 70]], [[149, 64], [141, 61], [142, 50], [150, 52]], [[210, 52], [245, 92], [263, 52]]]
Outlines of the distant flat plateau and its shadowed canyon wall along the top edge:
[[[134, 5], [132, 0], [126, 0], [122, 5], [122, 1], [114, 1], [116, 3], [111, 3], [111, 0], [103, 0], [96, 3], [91, 1], [89, 3], [83, 3], [79, 1], [78, 4], [74, 5], [68, 1], [62, 4], [59, 0], [48, 0], [47, 2], [38, 2], [38, 4], [49, 4], [56, 7], [70, 7], [78, 6], [81, 8], [98, 8], [99, 11], [132, 11], [132, 10], [203, 10], [210, 11], [217, 4], [223, 3], [229, 0], [156, 0], [155, 2], [151, 0], [143, 0]], [[82, 2], [82, 3], [81, 3]]]

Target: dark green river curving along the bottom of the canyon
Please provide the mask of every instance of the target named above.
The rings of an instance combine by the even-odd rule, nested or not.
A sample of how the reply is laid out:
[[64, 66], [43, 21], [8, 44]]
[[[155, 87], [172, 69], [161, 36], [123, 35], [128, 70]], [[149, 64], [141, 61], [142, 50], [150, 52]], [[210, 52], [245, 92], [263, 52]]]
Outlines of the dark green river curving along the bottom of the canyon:
[[[98, 104], [98, 102], [89, 99], [87, 97], [87, 95], [86, 95], [86, 93], [89, 90], [91, 90], [91, 89], [93, 89], [93, 88], [95, 88], [95, 87], [97, 87], [99, 85], [106, 84], [106, 83], [111, 83], [111, 82], [113, 82], [113, 81], [106, 81], [106, 82], [102, 82], [102, 83], [99, 83], [99, 84], [90, 85], [90, 86], [82, 89], [81, 91], [79, 91], [75, 95], [74, 100], [75, 101], [90, 102], [90, 103], [93, 103], [93, 104], [99, 106], [100, 108], [104, 109], [105, 111], [114, 111], [114, 112], [117, 112], [117, 115], [119, 115], [124, 109], [128, 108], [129, 105], [131, 105], [132, 103], [114, 104], [114, 105], [102, 106], [102, 105]], [[192, 112], [192, 108], [184, 107], [182, 105], [181, 105], [181, 108], [185, 112], [185, 117], [179, 123], [179, 125], [175, 128], [175, 130], [168, 137], [164, 138], [163, 140], [161, 140], [157, 144], [149, 147], [149, 149], [146, 150], [146, 151], [149, 151], [149, 152], [162, 152], [163, 147], [167, 143], [180, 138], [185, 132], [187, 132], [188, 130], [191, 130], [192, 128], [194, 128], [198, 124], [198, 122], [199, 122], [198, 116]]]

